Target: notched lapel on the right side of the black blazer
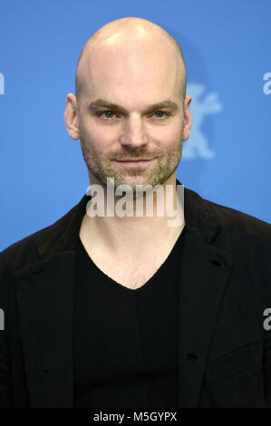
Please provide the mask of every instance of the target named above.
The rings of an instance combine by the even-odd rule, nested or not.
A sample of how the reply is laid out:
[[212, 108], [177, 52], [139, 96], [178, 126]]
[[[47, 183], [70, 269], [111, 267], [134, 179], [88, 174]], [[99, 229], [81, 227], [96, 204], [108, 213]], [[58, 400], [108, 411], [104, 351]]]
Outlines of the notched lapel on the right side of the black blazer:
[[232, 266], [229, 253], [209, 244], [220, 230], [210, 204], [193, 202], [186, 192], [184, 203], [186, 235], [179, 276], [179, 408], [198, 406], [212, 332]]

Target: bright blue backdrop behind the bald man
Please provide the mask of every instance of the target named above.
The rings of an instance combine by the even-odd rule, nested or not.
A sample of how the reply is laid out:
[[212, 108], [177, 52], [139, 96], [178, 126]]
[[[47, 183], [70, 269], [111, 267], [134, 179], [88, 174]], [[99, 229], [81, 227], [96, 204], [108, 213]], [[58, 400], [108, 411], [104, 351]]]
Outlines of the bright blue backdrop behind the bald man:
[[5, 0], [0, 5], [1, 241], [63, 216], [89, 186], [63, 121], [86, 40], [123, 16], [160, 24], [187, 66], [193, 125], [178, 178], [270, 223], [270, 0]]

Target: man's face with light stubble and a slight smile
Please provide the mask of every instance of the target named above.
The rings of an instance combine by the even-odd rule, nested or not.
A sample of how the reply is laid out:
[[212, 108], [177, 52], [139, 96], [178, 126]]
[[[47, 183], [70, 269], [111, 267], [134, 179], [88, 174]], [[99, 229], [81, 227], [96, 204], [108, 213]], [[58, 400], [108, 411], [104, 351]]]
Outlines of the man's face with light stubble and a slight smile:
[[[94, 59], [93, 59], [94, 58]], [[155, 187], [178, 167], [183, 141], [181, 70], [171, 46], [99, 46], [85, 63], [78, 124], [91, 183]], [[102, 99], [121, 109], [93, 102]], [[175, 108], [152, 104], [175, 102]], [[124, 160], [144, 159], [141, 162]]]

